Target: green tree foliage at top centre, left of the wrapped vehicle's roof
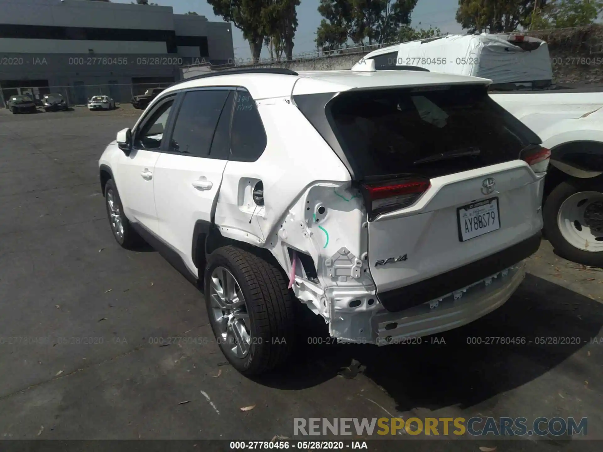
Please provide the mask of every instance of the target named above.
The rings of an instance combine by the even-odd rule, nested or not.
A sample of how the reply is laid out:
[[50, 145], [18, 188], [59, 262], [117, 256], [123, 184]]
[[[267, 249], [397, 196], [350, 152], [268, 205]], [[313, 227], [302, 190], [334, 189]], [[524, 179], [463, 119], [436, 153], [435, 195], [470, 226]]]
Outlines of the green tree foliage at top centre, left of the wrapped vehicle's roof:
[[411, 22], [417, 0], [320, 0], [324, 17], [317, 30], [317, 45], [323, 50], [396, 40], [400, 28]]

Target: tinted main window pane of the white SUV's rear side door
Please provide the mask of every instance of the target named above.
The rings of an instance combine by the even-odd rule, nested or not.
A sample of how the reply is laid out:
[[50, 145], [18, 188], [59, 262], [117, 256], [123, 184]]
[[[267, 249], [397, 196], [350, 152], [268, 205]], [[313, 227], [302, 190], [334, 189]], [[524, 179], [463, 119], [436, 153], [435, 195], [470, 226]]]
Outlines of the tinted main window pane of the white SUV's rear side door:
[[186, 93], [178, 111], [169, 151], [208, 157], [213, 133], [228, 95], [229, 90]]

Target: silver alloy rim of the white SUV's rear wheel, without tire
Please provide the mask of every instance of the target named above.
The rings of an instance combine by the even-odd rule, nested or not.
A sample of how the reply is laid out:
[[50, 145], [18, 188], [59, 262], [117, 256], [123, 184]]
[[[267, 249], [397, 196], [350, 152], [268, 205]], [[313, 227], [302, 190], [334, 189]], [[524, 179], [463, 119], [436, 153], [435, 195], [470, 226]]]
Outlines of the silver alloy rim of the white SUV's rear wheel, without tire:
[[210, 277], [210, 304], [219, 330], [218, 341], [237, 358], [244, 358], [251, 346], [251, 324], [241, 286], [224, 267], [216, 267]]

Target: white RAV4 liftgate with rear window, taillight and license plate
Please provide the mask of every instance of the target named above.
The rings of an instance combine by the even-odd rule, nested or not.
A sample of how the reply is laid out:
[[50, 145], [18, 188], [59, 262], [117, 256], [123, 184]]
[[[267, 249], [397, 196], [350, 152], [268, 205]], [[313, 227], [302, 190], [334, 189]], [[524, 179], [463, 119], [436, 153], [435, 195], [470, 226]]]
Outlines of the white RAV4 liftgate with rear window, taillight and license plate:
[[[524, 149], [541, 149], [540, 139], [485, 87], [343, 93], [330, 113], [367, 205], [378, 293], [461, 268], [540, 231], [543, 175], [520, 160]], [[517, 263], [526, 257], [520, 254], [505, 259]], [[505, 259], [494, 259], [491, 274]], [[480, 274], [467, 280], [488, 275]], [[437, 289], [406, 295], [427, 301], [468, 285], [432, 281]], [[404, 304], [399, 293], [388, 309]]]

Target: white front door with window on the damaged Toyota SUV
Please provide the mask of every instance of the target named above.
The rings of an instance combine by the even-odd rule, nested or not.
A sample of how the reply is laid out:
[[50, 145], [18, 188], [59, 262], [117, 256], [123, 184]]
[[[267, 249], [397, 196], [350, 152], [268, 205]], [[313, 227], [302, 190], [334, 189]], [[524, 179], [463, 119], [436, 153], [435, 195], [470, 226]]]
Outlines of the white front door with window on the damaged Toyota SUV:
[[142, 119], [133, 133], [133, 149], [119, 162], [115, 175], [127, 218], [155, 234], [159, 231], [159, 222], [153, 192], [154, 171], [172, 104], [174, 97], [167, 98]]

